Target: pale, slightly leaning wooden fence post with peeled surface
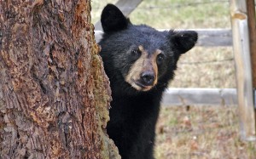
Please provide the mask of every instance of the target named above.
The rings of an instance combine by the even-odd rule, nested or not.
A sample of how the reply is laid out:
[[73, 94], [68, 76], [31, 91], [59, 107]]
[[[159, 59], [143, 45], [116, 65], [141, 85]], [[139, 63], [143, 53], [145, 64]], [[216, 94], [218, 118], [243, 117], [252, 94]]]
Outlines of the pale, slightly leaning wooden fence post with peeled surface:
[[230, 0], [230, 15], [236, 61], [237, 99], [241, 123], [241, 138], [255, 140], [256, 128], [247, 0]]

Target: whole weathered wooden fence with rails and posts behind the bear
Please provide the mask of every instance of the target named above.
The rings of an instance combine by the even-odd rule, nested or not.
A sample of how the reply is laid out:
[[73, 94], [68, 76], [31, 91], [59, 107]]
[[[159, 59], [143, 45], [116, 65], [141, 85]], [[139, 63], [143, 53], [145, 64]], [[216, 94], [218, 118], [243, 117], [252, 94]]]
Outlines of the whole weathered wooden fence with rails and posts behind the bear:
[[[119, 0], [116, 5], [128, 16], [143, 0]], [[169, 88], [162, 105], [238, 105], [241, 138], [256, 140], [256, 22], [254, 0], [230, 0], [229, 29], [200, 29], [197, 46], [233, 47], [236, 62], [236, 88]], [[102, 26], [96, 23], [96, 41]], [[233, 35], [233, 36], [232, 36]], [[252, 58], [252, 59], [251, 59]], [[252, 71], [253, 70], [253, 71]], [[256, 96], [256, 95], [255, 95]]]

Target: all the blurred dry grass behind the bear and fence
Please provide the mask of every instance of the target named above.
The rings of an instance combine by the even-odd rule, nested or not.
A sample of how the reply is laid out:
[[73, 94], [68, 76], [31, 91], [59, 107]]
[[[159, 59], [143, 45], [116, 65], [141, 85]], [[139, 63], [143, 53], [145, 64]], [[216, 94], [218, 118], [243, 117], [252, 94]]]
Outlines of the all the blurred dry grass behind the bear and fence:
[[[91, 0], [91, 19], [116, 0]], [[228, 0], [143, 0], [130, 15], [133, 24], [156, 29], [230, 29]], [[171, 88], [236, 88], [231, 47], [195, 47], [178, 62]], [[239, 138], [237, 106], [162, 106], [155, 157], [256, 158], [256, 143]]]

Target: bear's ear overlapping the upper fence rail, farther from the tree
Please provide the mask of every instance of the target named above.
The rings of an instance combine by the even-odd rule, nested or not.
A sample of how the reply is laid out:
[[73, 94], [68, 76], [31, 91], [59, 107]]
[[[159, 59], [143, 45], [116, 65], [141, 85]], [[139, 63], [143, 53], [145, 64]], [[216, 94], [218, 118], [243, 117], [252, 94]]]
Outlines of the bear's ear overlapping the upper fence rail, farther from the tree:
[[184, 54], [195, 46], [197, 41], [197, 32], [195, 31], [170, 31], [171, 43], [180, 54]]

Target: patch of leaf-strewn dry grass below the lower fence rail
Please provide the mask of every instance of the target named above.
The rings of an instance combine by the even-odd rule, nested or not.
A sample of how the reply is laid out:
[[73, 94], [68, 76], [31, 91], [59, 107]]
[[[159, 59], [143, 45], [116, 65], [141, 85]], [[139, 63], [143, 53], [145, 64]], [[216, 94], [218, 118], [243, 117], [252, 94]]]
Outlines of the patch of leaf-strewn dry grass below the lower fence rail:
[[239, 138], [236, 107], [162, 108], [155, 156], [169, 158], [256, 158], [256, 143]]

